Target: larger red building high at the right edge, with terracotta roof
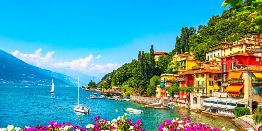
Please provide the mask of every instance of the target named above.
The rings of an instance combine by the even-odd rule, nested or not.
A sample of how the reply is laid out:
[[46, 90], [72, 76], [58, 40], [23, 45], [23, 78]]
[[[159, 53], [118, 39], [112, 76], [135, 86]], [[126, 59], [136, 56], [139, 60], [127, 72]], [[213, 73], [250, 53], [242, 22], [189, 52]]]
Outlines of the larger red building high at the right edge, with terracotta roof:
[[232, 70], [236, 65], [259, 65], [261, 66], [261, 57], [258, 55], [250, 53], [240, 53], [231, 54], [228, 56], [221, 57], [222, 66], [222, 91], [227, 87], [228, 70]]

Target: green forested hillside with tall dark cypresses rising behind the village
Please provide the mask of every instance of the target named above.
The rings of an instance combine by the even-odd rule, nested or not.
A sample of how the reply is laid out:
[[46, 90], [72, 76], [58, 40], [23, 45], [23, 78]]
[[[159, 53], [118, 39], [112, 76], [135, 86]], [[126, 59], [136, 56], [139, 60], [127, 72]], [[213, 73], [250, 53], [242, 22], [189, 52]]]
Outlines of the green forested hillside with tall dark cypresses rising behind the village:
[[170, 49], [169, 56], [160, 56], [155, 64], [152, 45], [150, 53], [139, 51], [137, 60], [132, 60], [131, 63], [114, 70], [110, 74], [110, 79], [101, 82], [101, 84], [107, 85], [107, 87], [128, 85], [135, 87], [136, 91], [147, 91], [148, 93], [155, 91], [155, 85], [159, 82], [157, 82], [157, 77], [151, 78], [154, 75], [159, 76], [162, 71], [178, 67], [176, 62], [170, 62], [174, 54], [193, 52], [197, 60], [205, 61], [205, 52], [208, 47], [222, 41], [232, 43], [251, 33], [261, 33], [261, 28], [256, 28], [256, 22], [260, 20], [259, 12], [246, 11], [241, 15], [235, 15], [236, 8], [250, 5], [251, 3], [244, 1], [234, 8], [224, 10], [221, 16], [213, 15], [208, 24], [200, 25], [198, 30], [194, 27], [182, 27], [180, 36], [176, 36], [174, 49]]

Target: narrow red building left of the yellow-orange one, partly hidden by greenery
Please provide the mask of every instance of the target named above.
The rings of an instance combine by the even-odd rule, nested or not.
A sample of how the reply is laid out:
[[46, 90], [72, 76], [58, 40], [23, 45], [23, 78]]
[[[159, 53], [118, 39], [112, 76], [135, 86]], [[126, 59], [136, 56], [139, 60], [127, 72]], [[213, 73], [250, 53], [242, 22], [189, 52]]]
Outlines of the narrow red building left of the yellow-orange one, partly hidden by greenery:
[[[188, 70], [184, 73], [179, 74], [178, 80], [178, 86], [187, 86], [187, 87], [192, 87], [194, 86], [194, 71], [193, 70]], [[190, 94], [187, 91], [179, 91], [179, 100], [185, 100], [189, 101], [190, 100]]]

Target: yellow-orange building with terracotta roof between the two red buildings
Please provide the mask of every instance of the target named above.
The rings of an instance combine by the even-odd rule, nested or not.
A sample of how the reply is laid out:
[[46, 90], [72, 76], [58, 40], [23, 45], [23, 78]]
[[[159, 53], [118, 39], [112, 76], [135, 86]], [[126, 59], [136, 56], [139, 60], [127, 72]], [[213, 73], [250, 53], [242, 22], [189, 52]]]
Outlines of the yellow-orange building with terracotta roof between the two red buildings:
[[216, 82], [221, 78], [219, 70], [206, 69], [194, 73], [194, 92], [212, 93], [213, 91], [221, 91], [221, 83]]

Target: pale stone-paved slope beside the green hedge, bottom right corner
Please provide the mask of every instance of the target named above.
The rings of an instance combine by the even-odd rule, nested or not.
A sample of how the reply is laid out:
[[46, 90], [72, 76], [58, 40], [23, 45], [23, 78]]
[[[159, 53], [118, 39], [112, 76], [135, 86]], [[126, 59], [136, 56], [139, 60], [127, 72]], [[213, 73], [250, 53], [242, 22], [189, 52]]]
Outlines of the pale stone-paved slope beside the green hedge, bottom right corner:
[[238, 124], [243, 128], [243, 130], [247, 131], [252, 129], [254, 131], [258, 130], [258, 126], [255, 126], [252, 120], [252, 115], [244, 115], [235, 119], [232, 119], [234, 123]]

